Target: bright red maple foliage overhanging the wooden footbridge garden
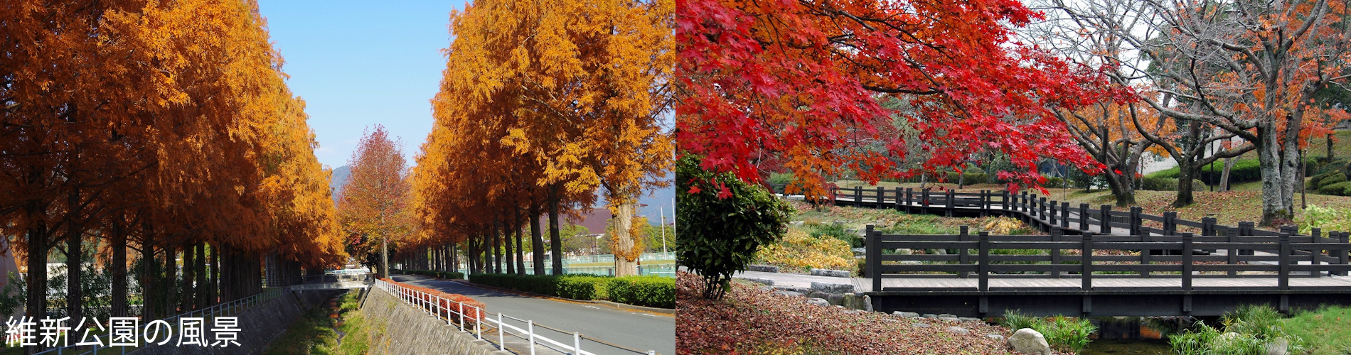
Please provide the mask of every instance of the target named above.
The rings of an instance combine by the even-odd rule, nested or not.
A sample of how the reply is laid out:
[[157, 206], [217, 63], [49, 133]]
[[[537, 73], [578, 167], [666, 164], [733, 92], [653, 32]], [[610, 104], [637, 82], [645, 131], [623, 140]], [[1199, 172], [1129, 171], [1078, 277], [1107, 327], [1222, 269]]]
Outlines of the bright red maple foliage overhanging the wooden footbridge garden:
[[[811, 196], [843, 170], [907, 177], [981, 151], [1027, 167], [1002, 177], [1015, 185], [1038, 184], [1043, 158], [1101, 169], [1052, 109], [1120, 90], [1012, 40], [1011, 27], [1039, 18], [1019, 1], [681, 0], [677, 11], [677, 139], [707, 169], [758, 181], [759, 165], [780, 159], [789, 186]], [[878, 96], [911, 109], [885, 109]], [[908, 155], [900, 127], [927, 154]]]

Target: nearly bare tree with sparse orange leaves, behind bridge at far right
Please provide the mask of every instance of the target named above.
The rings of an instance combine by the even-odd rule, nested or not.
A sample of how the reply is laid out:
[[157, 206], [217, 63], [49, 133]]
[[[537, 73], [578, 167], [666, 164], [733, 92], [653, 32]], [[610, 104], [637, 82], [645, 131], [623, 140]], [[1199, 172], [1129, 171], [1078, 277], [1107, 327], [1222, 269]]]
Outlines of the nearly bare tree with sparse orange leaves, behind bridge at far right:
[[1347, 85], [1351, 9], [1343, 0], [1048, 1], [1065, 32], [1121, 38], [1117, 81], [1144, 81], [1136, 97], [1171, 119], [1219, 127], [1256, 151], [1262, 225], [1289, 223], [1301, 147], [1340, 109], [1319, 103]]

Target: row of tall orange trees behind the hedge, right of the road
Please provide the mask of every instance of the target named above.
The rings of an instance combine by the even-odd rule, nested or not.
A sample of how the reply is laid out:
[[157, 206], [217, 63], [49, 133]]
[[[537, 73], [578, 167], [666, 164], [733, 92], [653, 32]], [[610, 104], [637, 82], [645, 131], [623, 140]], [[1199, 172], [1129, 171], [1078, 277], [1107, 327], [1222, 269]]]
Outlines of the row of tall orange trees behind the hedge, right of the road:
[[[526, 273], [531, 243], [534, 273], [544, 274], [543, 228], [527, 242], [523, 227], [547, 213], [547, 248], [561, 255], [561, 215], [603, 197], [616, 216], [616, 274], [635, 274], [636, 201], [663, 184], [674, 153], [663, 126], [674, 7], [480, 0], [453, 12], [435, 127], [409, 178], [422, 228], [403, 250], [426, 261], [462, 244], [474, 273]], [[561, 274], [562, 259], [551, 267]]]

